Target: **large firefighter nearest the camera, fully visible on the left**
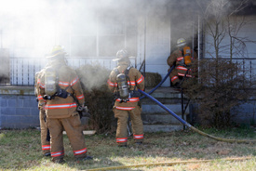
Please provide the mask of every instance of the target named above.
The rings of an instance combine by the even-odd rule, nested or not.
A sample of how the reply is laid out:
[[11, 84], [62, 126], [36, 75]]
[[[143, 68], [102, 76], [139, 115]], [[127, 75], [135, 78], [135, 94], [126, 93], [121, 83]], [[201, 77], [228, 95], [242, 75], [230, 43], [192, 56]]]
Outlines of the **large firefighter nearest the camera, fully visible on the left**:
[[70, 140], [74, 158], [92, 159], [88, 156], [80, 116], [76, 111], [77, 106], [84, 107], [83, 90], [78, 76], [66, 64], [65, 54], [61, 46], [53, 47], [47, 56], [48, 66], [39, 83], [39, 94], [47, 100], [47, 126], [50, 132], [51, 157], [55, 163], [64, 162], [63, 130]]

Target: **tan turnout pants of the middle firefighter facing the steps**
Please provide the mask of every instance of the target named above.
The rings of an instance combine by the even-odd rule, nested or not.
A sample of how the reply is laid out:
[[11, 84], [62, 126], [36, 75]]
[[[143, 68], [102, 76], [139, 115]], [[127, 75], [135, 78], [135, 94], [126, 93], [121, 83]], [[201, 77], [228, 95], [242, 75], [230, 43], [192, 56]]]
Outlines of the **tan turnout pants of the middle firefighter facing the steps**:
[[141, 108], [136, 106], [131, 111], [117, 110], [114, 108], [115, 118], [117, 118], [116, 143], [126, 145], [128, 142], [128, 114], [131, 119], [133, 139], [135, 142], [143, 141], [143, 123], [141, 120]]

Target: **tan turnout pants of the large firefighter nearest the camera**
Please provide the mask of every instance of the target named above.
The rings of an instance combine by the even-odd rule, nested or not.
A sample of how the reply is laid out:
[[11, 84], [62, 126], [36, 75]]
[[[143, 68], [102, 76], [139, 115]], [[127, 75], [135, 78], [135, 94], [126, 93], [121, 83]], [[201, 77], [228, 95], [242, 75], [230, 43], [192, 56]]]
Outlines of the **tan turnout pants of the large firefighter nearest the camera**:
[[47, 125], [50, 132], [51, 157], [53, 157], [54, 160], [64, 157], [63, 130], [67, 133], [74, 152], [74, 157], [84, 158], [87, 156], [85, 137], [82, 132], [79, 114], [69, 118], [47, 118]]

